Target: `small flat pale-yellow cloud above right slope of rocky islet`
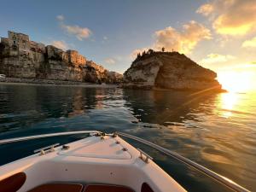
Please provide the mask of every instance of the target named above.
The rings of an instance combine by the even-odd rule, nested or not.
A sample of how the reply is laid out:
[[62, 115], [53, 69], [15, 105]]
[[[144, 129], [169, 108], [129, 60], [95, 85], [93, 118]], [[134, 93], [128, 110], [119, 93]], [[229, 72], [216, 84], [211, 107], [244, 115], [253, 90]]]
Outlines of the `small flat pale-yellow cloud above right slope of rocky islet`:
[[200, 61], [201, 64], [213, 64], [219, 62], [226, 62], [235, 59], [233, 55], [220, 55], [220, 54], [209, 54], [207, 58]]

